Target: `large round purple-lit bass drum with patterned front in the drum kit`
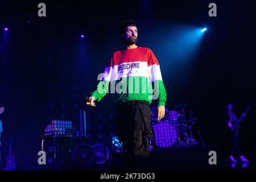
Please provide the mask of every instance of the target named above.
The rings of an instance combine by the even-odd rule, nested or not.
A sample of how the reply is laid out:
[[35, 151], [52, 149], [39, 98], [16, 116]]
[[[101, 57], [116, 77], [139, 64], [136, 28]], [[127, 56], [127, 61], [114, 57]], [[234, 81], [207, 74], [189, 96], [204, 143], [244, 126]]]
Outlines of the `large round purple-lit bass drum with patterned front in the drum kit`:
[[178, 140], [177, 129], [167, 121], [160, 121], [153, 125], [156, 146], [168, 148], [174, 146]]

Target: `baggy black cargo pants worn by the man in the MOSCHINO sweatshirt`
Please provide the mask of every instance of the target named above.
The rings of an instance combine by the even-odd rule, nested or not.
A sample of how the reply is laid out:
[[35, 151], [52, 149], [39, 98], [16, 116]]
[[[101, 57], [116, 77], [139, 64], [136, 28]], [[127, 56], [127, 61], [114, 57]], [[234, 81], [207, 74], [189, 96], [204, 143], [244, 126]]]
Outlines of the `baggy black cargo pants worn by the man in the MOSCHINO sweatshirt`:
[[123, 151], [129, 169], [146, 169], [149, 159], [148, 137], [151, 110], [146, 101], [129, 101], [117, 105], [118, 138], [123, 142]]

